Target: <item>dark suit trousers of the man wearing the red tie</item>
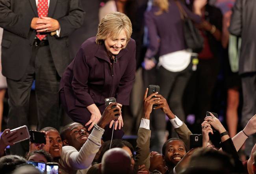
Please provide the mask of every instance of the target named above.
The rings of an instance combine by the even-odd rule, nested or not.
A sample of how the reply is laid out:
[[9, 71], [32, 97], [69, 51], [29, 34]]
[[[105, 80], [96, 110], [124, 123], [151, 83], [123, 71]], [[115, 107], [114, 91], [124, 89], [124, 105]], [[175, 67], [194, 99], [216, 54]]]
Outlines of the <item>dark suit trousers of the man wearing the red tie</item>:
[[[15, 63], [15, 62], [14, 62]], [[37, 102], [37, 129], [60, 126], [58, 90], [60, 77], [54, 66], [49, 46], [34, 46], [33, 56], [24, 76], [16, 81], [7, 78], [9, 114], [7, 128], [28, 125], [29, 99], [33, 80]], [[28, 141], [10, 148], [11, 154], [24, 155], [29, 149]]]

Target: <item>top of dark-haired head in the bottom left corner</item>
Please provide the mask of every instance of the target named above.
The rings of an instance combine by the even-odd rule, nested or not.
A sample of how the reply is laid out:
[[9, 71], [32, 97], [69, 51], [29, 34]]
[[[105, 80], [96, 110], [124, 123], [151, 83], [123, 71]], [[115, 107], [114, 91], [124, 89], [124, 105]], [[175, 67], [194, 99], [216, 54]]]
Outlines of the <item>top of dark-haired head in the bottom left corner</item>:
[[18, 165], [26, 164], [26, 159], [18, 155], [6, 155], [0, 158], [0, 171], [10, 174]]

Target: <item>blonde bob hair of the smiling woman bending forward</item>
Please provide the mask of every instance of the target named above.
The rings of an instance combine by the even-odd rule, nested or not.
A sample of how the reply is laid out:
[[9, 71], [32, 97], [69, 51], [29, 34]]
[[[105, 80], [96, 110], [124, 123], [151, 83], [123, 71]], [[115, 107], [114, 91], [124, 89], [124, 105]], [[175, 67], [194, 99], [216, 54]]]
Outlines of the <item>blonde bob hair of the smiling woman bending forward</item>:
[[124, 30], [127, 36], [127, 42], [131, 39], [132, 23], [130, 19], [120, 12], [108, 13], [98, 25], [96, 43], [103, 44], [107, 37], [115, 38]]

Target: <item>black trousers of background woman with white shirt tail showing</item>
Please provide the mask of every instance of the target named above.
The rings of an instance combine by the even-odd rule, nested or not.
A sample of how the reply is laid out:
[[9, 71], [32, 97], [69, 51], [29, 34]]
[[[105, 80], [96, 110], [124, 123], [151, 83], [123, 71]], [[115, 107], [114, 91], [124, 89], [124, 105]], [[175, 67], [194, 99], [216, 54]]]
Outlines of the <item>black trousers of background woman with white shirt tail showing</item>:
[[[160, 94], [166, 98], [170, 109], [180, 120], [185, 121], [185, 113], [182, 107], [182, 96], [191, 76], [191, 66], [180, 72], [170, 72], [163, 67], [157, 70], [157, 84], [160, 86]], [[151, 150], [161, 153], [165, 142], [166, 123], [165, 114], [161, 109], [153, 110], [150, 118], [152, 125], [152, 148]], [[174, 129], [172, 134], [175, 135]]]

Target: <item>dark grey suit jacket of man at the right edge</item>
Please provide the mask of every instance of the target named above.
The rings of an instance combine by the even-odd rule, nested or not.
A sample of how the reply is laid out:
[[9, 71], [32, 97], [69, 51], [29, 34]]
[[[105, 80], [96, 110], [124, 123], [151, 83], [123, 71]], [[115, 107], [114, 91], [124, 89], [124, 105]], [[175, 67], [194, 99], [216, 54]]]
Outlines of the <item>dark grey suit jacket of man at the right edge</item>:
[[230, 21], [231, 34], [241, 36], [239, 74], [256, 72], [256, 1], [236, 0]]

